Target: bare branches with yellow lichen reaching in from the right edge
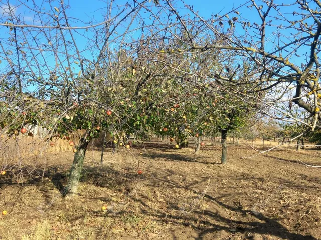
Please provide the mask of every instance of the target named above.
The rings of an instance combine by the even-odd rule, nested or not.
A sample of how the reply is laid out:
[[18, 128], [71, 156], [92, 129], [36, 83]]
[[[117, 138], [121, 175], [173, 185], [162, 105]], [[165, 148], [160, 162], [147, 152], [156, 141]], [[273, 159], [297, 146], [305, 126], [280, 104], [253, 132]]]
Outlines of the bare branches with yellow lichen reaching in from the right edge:
[[[213, 74], [213, 77], [234, 85], [247, 84], [251, 89], [247, 93], [264, 91], [264, 100], [258, 100], [270, 108], [265, 114], [278, 120], [300, 122], [307, 130], [313, 131], [318, 126], [320, 117], [320, 71], [317, 55], [321, 34], [321, 4], [318, 0], [311, 0], [296, 1], [291, 6], [279, 5], [273, 0], [251, 0], [244, 7], [257, 12], [260, 19], [258, 23], [240, 14], [242, 7], [231, 10], [228, 15], [215, 15], [210, 19], [204, 19], [189, 7], [199, 20], [194, 21], [197, 27], [204, 29], [203, 34], [221, 38], [224, 44], [213, 43], [210, 38], [206, 38], [207, 42], [201, 44], [194, 39], [187, 39], [186, 44], [190, 45], [190, 49], [200, 49], [203, 52], [220, 49], [233, 51], [236, 59], [248, 58], [252, 61], [248, 69], [256, 69], [258, 77], [246, 75], [241, 80], [231, 80], [220, 73]], [[256, 36], [260, 37], [259, 41], [254, 39]], [[290, 97], [285, 98], [286, 94]], [[308, 119], [303, 121], [280, 108], [279, 103], [285, 101], [308, 112]], [[306, 131], [297, 137], [305, 133]]]

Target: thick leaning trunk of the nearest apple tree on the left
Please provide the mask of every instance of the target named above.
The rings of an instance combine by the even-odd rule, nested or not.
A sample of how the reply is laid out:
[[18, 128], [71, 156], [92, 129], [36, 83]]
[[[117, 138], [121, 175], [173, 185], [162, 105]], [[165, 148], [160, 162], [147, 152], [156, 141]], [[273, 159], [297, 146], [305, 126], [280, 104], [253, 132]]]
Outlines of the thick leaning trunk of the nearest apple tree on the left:
[[79, 179], [82, 171], [82, 165], [84, 163], [84, 158], [88, 146], [88, 134], [89, 132], [86, 132], [80, 139], [80, 142], [77, 146], [77, 151], [74, 156], [74, 161], [72, 163], [72, 167], [70, 170], [70, 176], [68, 180], [68, 186], [66, 189], [66, 197], [67, 198], [73, 198], [78, 190], [79, 185]]

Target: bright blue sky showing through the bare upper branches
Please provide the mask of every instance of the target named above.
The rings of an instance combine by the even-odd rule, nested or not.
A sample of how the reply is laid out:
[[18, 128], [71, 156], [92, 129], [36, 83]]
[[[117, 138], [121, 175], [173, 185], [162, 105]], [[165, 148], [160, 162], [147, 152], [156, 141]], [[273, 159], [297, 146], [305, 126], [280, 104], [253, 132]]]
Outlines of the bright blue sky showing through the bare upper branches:
[[[294, 1], [295, 0], [288, 0], [287, 2], [290, 3], [290, 2], [294, 2]], [[40, 6], [42, 3], [42, 0], [35, 0], [35, 2], [38, 6]], [[92, 0], [92, 1], [69, 0], [68, 2], [69, 2], [69, 5], [71, 6], [71, 8], [68, 9], [67, 15], [70, 17], [74, 17], [76, 19], [81, 19], [83, 21], [83, 22], [79, 22], [79, 21], [73, 22], [72, 20], [70, 20], [69, 23], [71, 26], [85, 26], [85, 25], [87, 25], [86, 23], [89, 21], [93, 21], [94, 23], [102, 22], [104, 20], [102, 16], [106, 12], [106, 9], [108, 7], [106, 2], [98, 1], [98, 0]], [[124, 5], [125, 2], [126, 2], [126, 0], [115, 0], [114, 4]], [[177, 2], [180, 3], [180, 1], [177, 1]], [[245, 1], [245, 0], [224, 0], [224, 1], [223, 0], [185, 0], [186, 4], [193, 5], [194, 10], [198, 11], [199, 15], [203, 16], [204, 18], [210, 17], [212, 13], [219, 14], [219, 15], [225, 15], [225, 13], [229, 12], [232, 8], [235, 9], [235, 8], [239, 7], [241, 4], [244, 4], [245, 2], [247, 2], [247, 1]], [[281, 0], [276, 0], [276, 2], [282, 3]], [[28, 1], [28, 2], [26, 1], [25, 4], [27, 6], [32, 6], [32, 1]], [[259, 1], [257, 1], [257, 4], [259, 5]], [[19, 3], [15, 0], [10, 0], [10, 5], [17, 6], [17, 5], [19, 5]], [[2, 6], [4, 8], [3, 10], [0, 9], [0, 13], [3, 12], [4, 10], [6, 10], [6, 7], [4, 7], [4, 3], [2, 5], [0, 3], [0, 6]], [[60, 6], [59, 1], [56, 1], [56, 2], [52, 1], [51, 6], [48, 3], [44, 3], [42, 5], [41, 10], [44, 12], [49, 12], [50, 14], [57, 14], [54, 10], [55, 6], [59, 8], [59, 6]], [[126, 10], [128, 11], [129, 9], [126, 9]], [[287, 8], [288, 13], [291, 13], [294, 10], [298, 10], [298, 9], [293, 9], [293, 7]], [[37, 21], [37, 17], [34, 18], [34, 13], [32, 11], [30, 11], [26, 6], [20, 6], [18, 8], [15, 8], [14, 11], [15, 11], [15, 15], [20, 15], [21, 18], [25, 19], [26, 24], [34, 24], [34, 25], [39, 24], [39, 22]], [[187, 10], [184, 10], [182, 8], [178, 8], [178, 11], [181, 14], [188, 12]], [[239, 12], [240, 12], [239, 17], [245, 17], [252, 22], [260, 23], [260, 19], [259, 19], [258, 14], [254, 8], [250, 9], [247, 7], [242, 7], [242, 9], [240, 9]], [[60, 12], [60, 14], [61, 14], [61, 12]], [[232, 17], [232, 16], [236, 16], [236, 14], [231, 13], [230, 17]], [[292, 17], [292, 14], [289, 14], [288, 17]], [[6, 21], [6, 18], [8, 18], [8, 16], [0, 14], [0, 22]], [[228, 28], [228, 25], [226, 24], [225, 27]], [[241, 30], [241, 27], [237, 25], [236, 29]], [[273, 30], [275, 30], [275, 28]], [[120, 28], [119, 31], [121, 32], [122, 29]], [[267, 28], [266, 35], [269, 36], [272, 34], [272, 32], [273, 32], [272, 30]], [[289, 33], [290, 32], [285, 33], [283, 31], [283, 34], [289, 34]], [[77, 42], [80, 50], [86, 49], [86, 47], [87, 47], [86, 46], [87, 41], [83, 36], [81, 36], [81, 34], [84, 34], [86, 37], [92, 38], [92, 35], [90, 35], [92, 33], [90, 33], [90, 31], [87, 33], [84, 30], [79, 30], [78, 33], [75, 34], [75, 39], [76, 39], [76, 42]], [[142, 32], [137, 31], [136, 34], [134, 35], [134, 37], [139, 37], [140, 34], [142, 34]], [[37, 35], [37, 37], [38, 36], [39, 35]], [[6, 44], [9, 37], [10, 37], [9, 28], [0, 27], [0, 41], [2, 41], [3, 44]], [[274, 36], [271, 35], [271, 39], [273, 39], [273, 37]], [[48, 45], [48, 41], [45, 38], [41, 38], [41, 39], [37, 39], [37, 40], [44, 45]], [[69, 40], [70, 40], [70, 38], [69, 38]], [[53, 39], [53, 41], [54, 41], [54, 39]], [[267, 43], [266, 47], [267, 48], [272, 47], [272, 43]], [[303, 53], [303, 52], [301, 52], [301, 53]], [[301, 55], [301, 53], [299, 52], [300, 55]], [[85, 55], [87, 55], [88, 58], [91, 57], [90, 54], [85, 54]], [[0, 53], [0, 60], [3, 60], [1, 58], [2, 58], [2, 54]], [[45, 59], [47, 61], [54, 62], [53, 56], [50, 54], [47, 54]], [[76, 57], [74, 60], [77, 61]], [[295, 59], [295, 60], [300, 62], [299, 58]], [[3, 66], [4, 66], [3, 63], [0, 64], [0, 72], [2, 71], [1, 68]], [[75, 72], [78, 72], [79, 68], [77, 67], [77, 64], [74, 64], [74, 67], [75, 67]]]

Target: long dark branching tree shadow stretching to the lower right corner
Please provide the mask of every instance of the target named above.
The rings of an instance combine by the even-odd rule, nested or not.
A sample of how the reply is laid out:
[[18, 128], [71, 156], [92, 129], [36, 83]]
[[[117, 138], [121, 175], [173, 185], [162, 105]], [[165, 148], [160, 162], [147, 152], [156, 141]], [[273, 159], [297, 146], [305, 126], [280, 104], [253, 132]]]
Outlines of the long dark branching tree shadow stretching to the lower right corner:
[[[128, 168], [128, 171], [129, 170], [130, 169]], [[198, 232], [198, 237], [195, 237], [194, 239], [205, 239], [207, 234], [214, 234], [218, 229], [225, 230], [227, 232], [230, 232], [230, 230], [233, 229], [233, 231], [236, 233], [243, 234], [246, 232], [249, 236], [253, 236], [253, 234], [256, 233], [269, 234], [271, 236], [280, 237], [282, 239], [316, 240], [316, 238], [312, 236], [303, 236], [297, 233], [289, 232], [288, 229], [282, 226], [277, 220], [271, 219], [262, 213], [255, 215], [251, 211], [244, 210], [241, 207], [235, 207], [233, 205], [226, 204], [221, 200], [222, 197], [227, 197], [226, 195], [222, 197], [213, 197], [209, 194], [204, 194], [202, 192], [194, 190], [193, 185], [182, 186], [173, 180], [167, 180], [167, 177], [173, 175], [174, 173], [171, 171], [167, 172], [166, 175], [162, 175], [159, 177], [155, 175], [151, 177], [139, 176], [132, 172], [124, 173], [116, 171], [112, 168], [105, 168], [103, 172], [97, 170], [97, 168], [87, 168], [86, 171], [86, 177], [82, 178], [82, 181], [86, 181], [87, 183], [89, 181], [97, 186], [107, 187], [113, 190], [117, 190], [119, 187], [122, 187], [123, 189], [125, 189], [125, 194], [128, 199], [131, 199], [132, 202], [139, 202], [143, 206], [143, 209], [141, 210], [142, 214], [152, 216], [154, 220], [157, 222], [191, 227]], [[137, 181], [146, 182], [147, 180], [150, 181], [150, 186], [153, 186], [153, 184], [159, 185], [160, 183], [163, 187], [167, 186], [167, 189], [176, 188], [192, 191], [200, 197], [204, 197], [207, 200], [219, 205], [223, 210], [227, 209], [232, 213], [240, 213], [244, 216], [246, 216], [247, 214], [251, 214], [254, 220], [233, 220], [232, 218], [224, 217], [217, 212], [211, 211], [210, 209], [206, 209], [204, 211], [201, 211], [200, 209], [195, 209], [190, 212], [193, 213], [193, 216], [190, 216], [189, 214], [184, 215], [182, 214], [182, 212], [180, 212], [180, 209], [177, 207], [177, 205], [173, 204], [172, 202], [164, 203], [165, 205], [169, 206], [166, 213], [164, 211], [159, 210], [155, 212], [154, 208], [150, 205], [151, 203], [149, 204], [148, 201], [143, 200], [140, 194], [132, 194], [132, 191], [134, 191], [134, 189], [130, 186], [131, 183]], [[204, 179], [204, 181], [206, 181], [206, 179]], [[100, 198], [100, 200], [104, 199]], [[130, 213], [130, 211], [121, 212], [121, 214], [126, 213]], [[204, 216], [210, 218], [211, 220], [207, 220]], [[198, 224], [196, 224], [196, 222], [198, 222]], [[174, 236], [175, 235], [173, 235], [173, 239], [175, 239]], [[248, 237], [247, 239], [251, 239], [251, 237]]]

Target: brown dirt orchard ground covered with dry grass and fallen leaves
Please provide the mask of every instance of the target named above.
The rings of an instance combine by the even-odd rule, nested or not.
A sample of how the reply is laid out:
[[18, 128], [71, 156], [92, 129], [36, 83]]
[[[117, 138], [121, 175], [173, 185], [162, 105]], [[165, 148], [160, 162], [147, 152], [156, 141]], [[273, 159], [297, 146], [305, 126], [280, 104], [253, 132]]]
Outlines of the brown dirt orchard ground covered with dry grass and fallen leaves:
[[100, 167], [89, 150], [71, 201], [61, 192], [73, 154], [47, 155], [44, 181], [44, 157], [29, 159], [24, 178], [0, 176], [0, 239], [321, 239], [321, 168], [298, 161], [321, 165], [321, 151], [242, 159], [257, 152], [230, 146], [227, 165], [220, 151], [154, 140], [106, 149]]

